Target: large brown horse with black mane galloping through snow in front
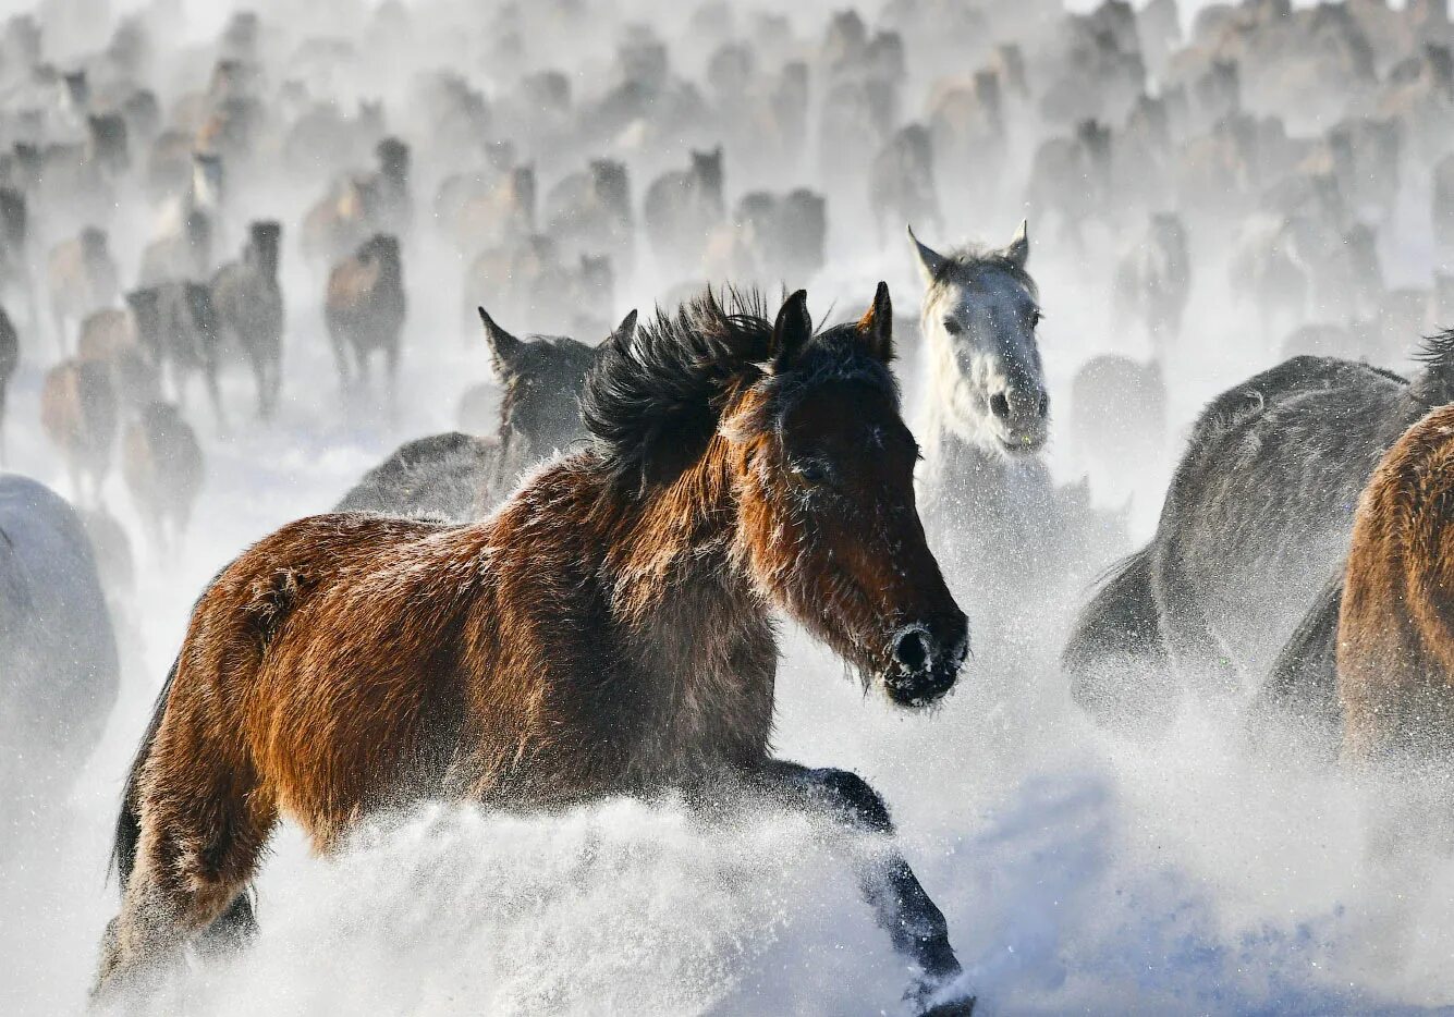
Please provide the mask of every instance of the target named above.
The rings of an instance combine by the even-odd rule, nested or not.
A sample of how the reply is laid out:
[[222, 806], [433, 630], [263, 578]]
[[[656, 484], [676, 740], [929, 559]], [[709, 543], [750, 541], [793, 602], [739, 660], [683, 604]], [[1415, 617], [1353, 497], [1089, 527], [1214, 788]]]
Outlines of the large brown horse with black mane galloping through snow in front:
[[[855, 774], [769, 754], [774, 610], [903, 708], [944, 696], [967, 654], [915, 508], [888, 288], [822, 334], [801, 291], [775, 324], [760, 311], [708, 293], [616, 333], [582, 397], [586, 447], [484, 522], [304, 519], [214, 580], [128, 782], [99, 991], [244, 933], [282, 814], [321, 851], [420, 798], [672, 787], [891, 831]], [[896, 853], [861, 882], [929, 1005], [960, 973], [944, 915]]]

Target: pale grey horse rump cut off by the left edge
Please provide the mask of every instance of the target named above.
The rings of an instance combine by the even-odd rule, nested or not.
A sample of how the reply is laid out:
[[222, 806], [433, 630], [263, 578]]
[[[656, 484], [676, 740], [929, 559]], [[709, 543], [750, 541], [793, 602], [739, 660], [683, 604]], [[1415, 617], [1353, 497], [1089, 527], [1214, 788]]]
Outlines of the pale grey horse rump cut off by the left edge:
[[4, 834], [65, 793], [100, 740], [116, 684], [115, 633], [80, 517], [48, 487], [0, 475]]

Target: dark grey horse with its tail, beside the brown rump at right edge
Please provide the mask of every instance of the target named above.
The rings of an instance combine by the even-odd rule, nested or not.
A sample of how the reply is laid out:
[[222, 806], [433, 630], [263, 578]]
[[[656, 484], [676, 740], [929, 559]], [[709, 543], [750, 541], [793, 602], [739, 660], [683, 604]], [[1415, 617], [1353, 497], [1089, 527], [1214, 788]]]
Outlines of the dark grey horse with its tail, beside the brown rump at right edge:
[[[1192, 429], [1156, 536], [1080, 613], [1070, 690], [1112, 725], [1168, 721], [1184, 686], [1326, 716], [1330, 628], [1354, 506], [1380, 456], [1454, 400], [1454, 341], [1399, 375], [1298, 356], [1218, 395]], [[1319, 647], [1323, 647], [1319, 649]], [[1319, 661], [1323, 663], [1319, 663]], [[1271, 677], [1269, 677], [1271, 676]]]

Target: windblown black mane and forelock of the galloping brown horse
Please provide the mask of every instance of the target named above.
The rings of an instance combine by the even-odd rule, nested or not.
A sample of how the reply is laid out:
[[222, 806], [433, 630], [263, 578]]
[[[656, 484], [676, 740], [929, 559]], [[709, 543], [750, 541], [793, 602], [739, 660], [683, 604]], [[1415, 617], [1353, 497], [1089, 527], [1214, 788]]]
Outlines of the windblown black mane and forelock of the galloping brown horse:
[[894, 392], [893, 375], [856, 341], [852, 324], [814, 336], [790, 369], [774, 370], [774, 323], [755, 289], [707, 289], [635, 337], [608, 340], [586, 379], [580, 410], [596, 450], [618, 482], [675, 479], [702, 453], [731, 394], [769, 385], [774, 405], [830, 376], [871, 378]]

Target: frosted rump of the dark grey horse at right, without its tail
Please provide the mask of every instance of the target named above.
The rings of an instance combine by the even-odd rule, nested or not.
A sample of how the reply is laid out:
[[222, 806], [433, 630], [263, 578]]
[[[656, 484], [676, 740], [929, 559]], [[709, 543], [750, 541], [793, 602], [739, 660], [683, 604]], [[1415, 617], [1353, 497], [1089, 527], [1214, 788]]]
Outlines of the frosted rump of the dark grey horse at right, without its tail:
[[1367, 365], [1301, 356], [1214, 400], [1154, 538], [1165, 623], [1175, 629], [1182, 609], [1205, 619], [1248, 674], [1265, 676], [1342, 559], [1406, 394], [1403, 379]]

